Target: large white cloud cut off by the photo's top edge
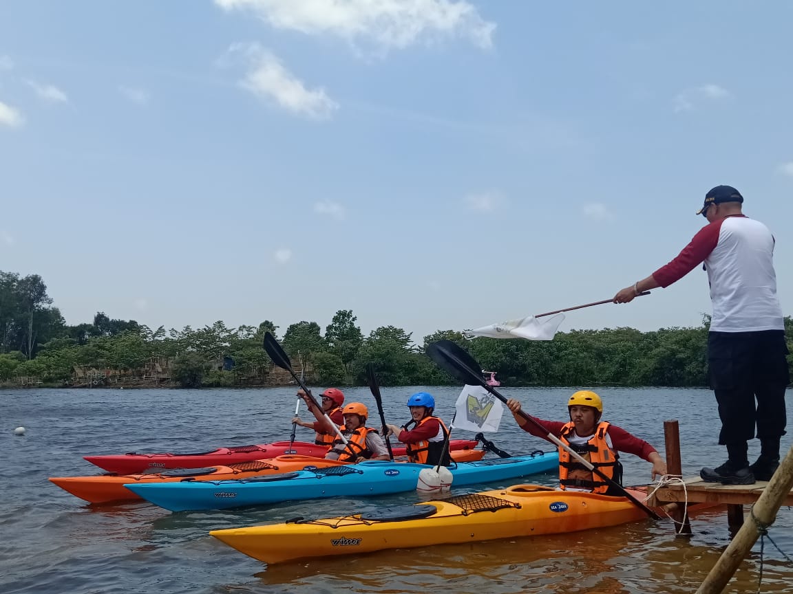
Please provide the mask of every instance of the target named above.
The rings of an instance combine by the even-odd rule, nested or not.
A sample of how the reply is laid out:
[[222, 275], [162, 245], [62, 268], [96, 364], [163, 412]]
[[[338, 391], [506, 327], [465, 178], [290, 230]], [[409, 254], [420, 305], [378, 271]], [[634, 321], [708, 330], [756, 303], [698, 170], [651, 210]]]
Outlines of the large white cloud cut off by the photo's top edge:
[[250, 10], [275, 29], [328, 34], [381, 48], [459, 36], [492, 45], [494, 23], [464, 0], [215, 0], [224, 10]]

